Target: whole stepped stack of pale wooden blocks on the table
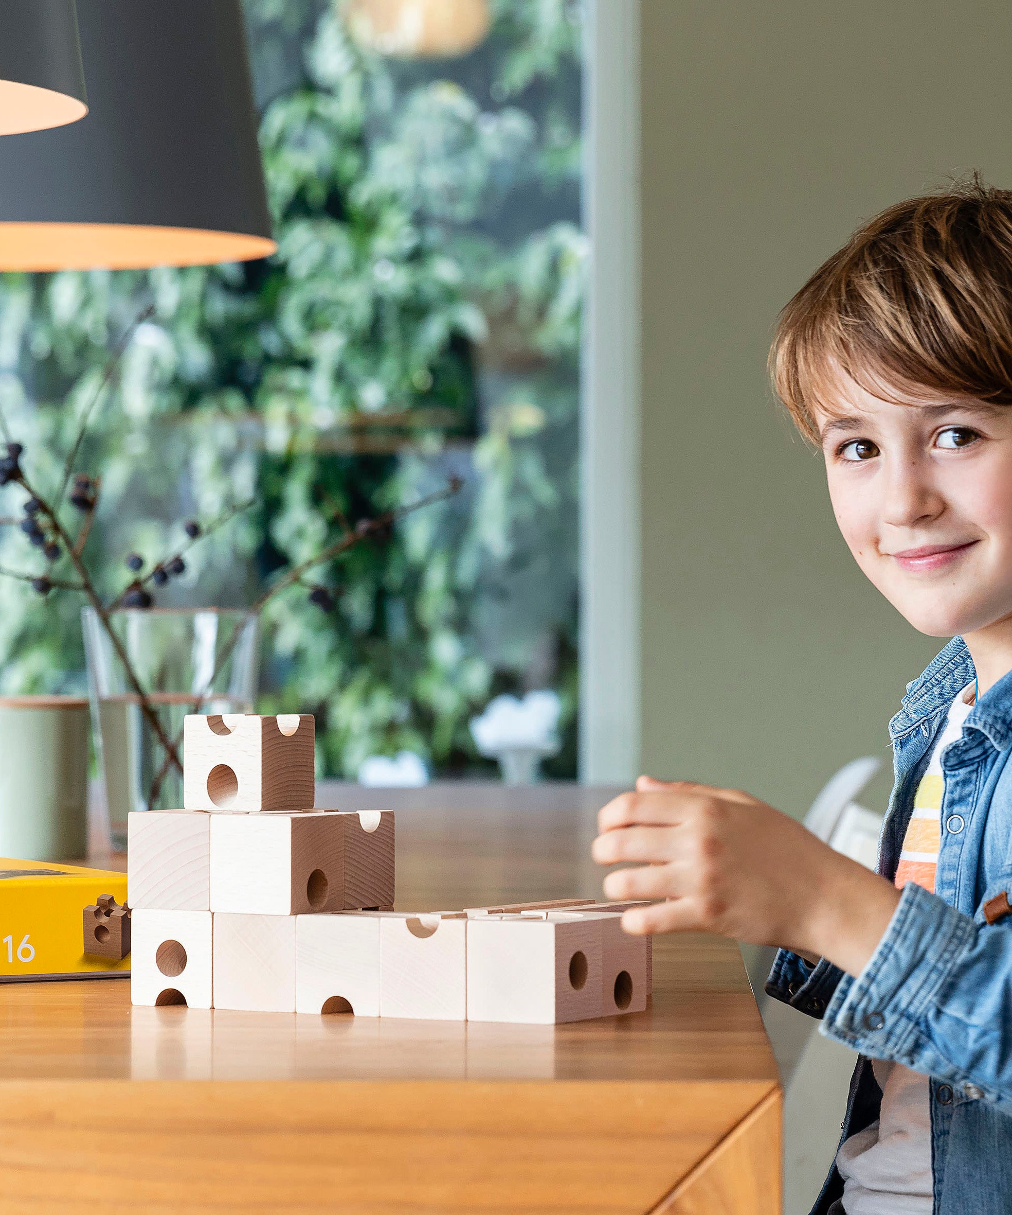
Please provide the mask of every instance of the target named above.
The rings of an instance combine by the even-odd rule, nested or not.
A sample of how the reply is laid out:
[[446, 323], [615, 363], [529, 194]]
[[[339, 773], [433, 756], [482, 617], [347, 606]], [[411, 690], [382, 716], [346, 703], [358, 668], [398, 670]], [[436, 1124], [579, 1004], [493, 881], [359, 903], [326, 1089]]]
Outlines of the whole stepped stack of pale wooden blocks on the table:
[[629, 904], [396, 912], [394, 821], [306, 809], [312, 717], [187, 717], [182, 810], [131, 814], [133, 1004], [552, 1024], [646, 1007]]

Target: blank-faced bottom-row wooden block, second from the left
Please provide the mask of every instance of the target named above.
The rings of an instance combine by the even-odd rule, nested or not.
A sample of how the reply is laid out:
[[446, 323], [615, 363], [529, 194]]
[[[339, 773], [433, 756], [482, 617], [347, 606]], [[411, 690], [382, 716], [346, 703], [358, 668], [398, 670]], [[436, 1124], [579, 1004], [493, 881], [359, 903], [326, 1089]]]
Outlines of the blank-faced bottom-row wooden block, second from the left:
[[215, 912], [215, 1007], [295, 1012], [292, 915]]

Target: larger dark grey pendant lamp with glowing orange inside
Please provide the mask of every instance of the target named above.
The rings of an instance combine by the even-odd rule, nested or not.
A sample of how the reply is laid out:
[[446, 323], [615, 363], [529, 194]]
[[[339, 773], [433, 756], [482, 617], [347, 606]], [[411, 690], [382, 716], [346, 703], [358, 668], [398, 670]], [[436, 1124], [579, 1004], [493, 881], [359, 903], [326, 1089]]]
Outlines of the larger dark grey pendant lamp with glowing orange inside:
[[272, 253], [240, 0], [78, 0], [78, 26], [86, 117], [0, 140], [0, 270]]

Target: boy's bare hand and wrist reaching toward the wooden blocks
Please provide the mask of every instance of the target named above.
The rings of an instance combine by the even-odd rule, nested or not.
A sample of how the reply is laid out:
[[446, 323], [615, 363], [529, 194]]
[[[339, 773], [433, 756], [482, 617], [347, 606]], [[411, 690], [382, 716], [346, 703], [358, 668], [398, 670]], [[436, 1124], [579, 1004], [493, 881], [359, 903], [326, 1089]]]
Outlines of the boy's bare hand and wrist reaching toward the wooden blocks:
[[858, 974], [899, 891], [747, 793], [641, 776], [597, 816], [610, 899], [666, 899], [622, 916], [632, 933], [715, 932], [825, 956]]

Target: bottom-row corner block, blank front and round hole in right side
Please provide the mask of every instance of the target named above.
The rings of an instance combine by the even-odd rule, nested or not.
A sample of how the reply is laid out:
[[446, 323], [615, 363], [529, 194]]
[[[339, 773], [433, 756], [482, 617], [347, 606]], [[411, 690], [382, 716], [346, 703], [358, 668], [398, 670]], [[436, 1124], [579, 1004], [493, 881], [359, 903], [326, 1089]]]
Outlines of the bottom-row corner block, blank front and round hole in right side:
[[602, 922], [548, 911], [467, 921], [467, 1019], [557, 1024], [602, 1015]]

